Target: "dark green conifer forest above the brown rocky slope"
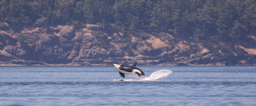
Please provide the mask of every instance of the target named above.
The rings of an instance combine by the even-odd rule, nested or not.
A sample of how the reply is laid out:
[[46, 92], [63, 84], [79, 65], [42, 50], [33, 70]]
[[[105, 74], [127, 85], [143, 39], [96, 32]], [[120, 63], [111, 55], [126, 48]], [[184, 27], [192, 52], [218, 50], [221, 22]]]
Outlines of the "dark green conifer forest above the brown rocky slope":
[[0, 22], [9, 24], [0, 23], [0, 30], [90, 23], [124, 34], [172, 32], [194, 43], [239, 43], [256, 34], [256, 0], [1, 0]]

